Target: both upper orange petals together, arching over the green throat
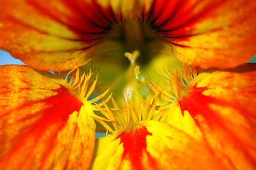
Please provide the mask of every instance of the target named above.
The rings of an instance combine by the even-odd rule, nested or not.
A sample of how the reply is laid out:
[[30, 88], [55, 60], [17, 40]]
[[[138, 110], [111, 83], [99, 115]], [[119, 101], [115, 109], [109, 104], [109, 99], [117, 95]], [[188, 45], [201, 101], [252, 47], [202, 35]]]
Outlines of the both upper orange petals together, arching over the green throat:
[[40, 70], [86, 64], [108, 32], [130, 19], [150, 26], [174, 57], [194, 66], [235, 67], [256, 54], [254, 0], [2, 0], [0, 6], [0, 47]]

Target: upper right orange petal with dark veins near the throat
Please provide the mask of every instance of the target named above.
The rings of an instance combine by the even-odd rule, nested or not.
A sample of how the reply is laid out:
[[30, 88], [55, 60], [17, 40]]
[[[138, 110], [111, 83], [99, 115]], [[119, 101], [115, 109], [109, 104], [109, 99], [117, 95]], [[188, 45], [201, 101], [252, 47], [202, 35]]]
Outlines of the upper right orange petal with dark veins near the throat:
[[228, 68], [256, 54], [255, 8], [254, 0], [157, 0], [144, 18], [181, 62]]

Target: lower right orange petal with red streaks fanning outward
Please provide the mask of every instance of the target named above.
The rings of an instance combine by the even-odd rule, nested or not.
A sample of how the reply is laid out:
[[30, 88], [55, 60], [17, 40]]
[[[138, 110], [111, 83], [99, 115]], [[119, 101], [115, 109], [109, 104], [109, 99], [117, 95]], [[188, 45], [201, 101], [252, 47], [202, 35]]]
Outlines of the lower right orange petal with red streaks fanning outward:
[[256, 169], [255, 77], [256, 64], [201, 73], [179, 103], [229, 169]]

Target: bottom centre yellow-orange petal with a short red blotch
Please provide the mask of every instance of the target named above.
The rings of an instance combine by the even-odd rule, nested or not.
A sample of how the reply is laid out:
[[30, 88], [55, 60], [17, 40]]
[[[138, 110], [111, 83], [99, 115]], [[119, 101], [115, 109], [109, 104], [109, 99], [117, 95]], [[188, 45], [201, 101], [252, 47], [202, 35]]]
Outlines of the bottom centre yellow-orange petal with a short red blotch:
[[96, 148], [92, 169], [224, 169], [204, 142], [164, 122], [101, 137]]

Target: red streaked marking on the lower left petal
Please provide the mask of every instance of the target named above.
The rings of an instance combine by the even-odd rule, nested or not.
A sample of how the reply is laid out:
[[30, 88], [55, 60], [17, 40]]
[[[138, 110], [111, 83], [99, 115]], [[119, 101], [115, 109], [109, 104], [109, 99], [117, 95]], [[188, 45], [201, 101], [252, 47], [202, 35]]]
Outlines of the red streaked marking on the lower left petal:
[[[59, 132], [63, 127], [65, 127], [65, 123], [67, 123], [69, 115], [72, 114], [74, 111], [77, 111], [79, 113], [79, 110], [82, 106], [82, 102], [79, 101], [78, 98], [76, 98], [75, 96], [70, 95], [69, 91], [64, 86], [61, 86], [60, 89], [52, 91], [56, 91], [58, 92], [58, 94], [40, 101], [26, 101], [26, 103], [23, 103], [21, 107], [15, 108], [16, 111], [24, 111], [26, 110], [26, 107], [32, 106], [35, 103], [45, 103], [45, 106], [50, 106], [48, 108], [42, 108], [37, 113], [34, 113], [33, 115], [28, 115], [26, 116], [26, 118], [23, 118], [23, 120], [25, 121], [41, 116], [32, 125], [26, 127], [26, 130], [22, 130], [18, 134], [18, 137], [16, 137], [15, 142], [13, 141], [14, 143], [12, 143], [12, 152], [9, 152], [9, 154], [4, 155], [4, 158], [1, 159], [1, 162], [4, 161], [5, 159], [9, 159], [9, 157], [11, 157], [12, 154], [15, 154], [15, 152], [18, 151], [18, 149], [21, 149], [24, 145], [26, 145], [26, 137], [35, 135], [37, 136], [37, 139], [40, 139], [40, 134], [48, 130], [50, 125], [53, 124], [59, 125], [59, 129], [55, 130], [55, 132], [52, 133], [52, 139], [49, 139], [54, 140], [55, 137], [57, 137], [57, 132]], [[4, 115], [8, 114], [11, 114], [11, 111], [1, 115], [1, 118], [4, 117]], [[0, 140], [0, 145], [4, 144], [2, 142], [5, 143], [11, 141]], [[45, 147], [47, 147], [47, 145], [45, 145]], [[49, 147], [48, 152], [50, 152], [50, 149], [51, 148]], [[47, 157], [47, 155], [45, 155], [45, 157]]]

